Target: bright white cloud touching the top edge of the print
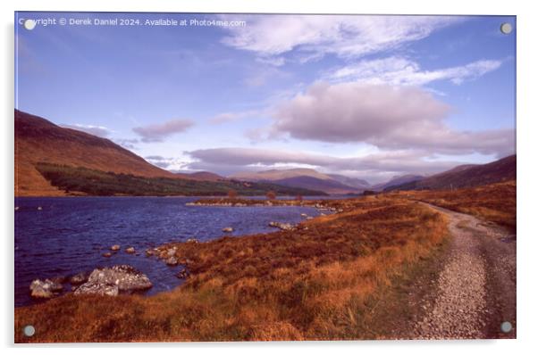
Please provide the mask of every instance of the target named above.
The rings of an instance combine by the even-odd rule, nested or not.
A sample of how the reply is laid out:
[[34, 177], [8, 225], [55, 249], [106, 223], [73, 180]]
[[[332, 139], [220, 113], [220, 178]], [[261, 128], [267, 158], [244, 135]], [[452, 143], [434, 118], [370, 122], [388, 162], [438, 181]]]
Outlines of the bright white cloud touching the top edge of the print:
[[[224, 17], [231, 15], [223, 15]], [[237, 15], [233, 15], [234, 19]], [[268, 58], [298, 50], [302, 58], [336, 54], [360, 57], [428, 37], [464, 17], [386, 15], [242, 16], [247, 27], [230, 28], [225, 45]]]

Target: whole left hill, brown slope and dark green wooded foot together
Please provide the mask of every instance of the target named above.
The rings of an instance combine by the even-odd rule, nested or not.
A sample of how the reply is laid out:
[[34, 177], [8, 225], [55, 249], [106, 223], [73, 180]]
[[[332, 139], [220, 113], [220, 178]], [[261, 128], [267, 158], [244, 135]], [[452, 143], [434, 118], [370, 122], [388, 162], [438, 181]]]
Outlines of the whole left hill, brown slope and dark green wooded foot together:
[[15, 110], [15, 196], [90, 195], [319, 195], [320, 191], [217, 181], [157, 168], [112, 141]]

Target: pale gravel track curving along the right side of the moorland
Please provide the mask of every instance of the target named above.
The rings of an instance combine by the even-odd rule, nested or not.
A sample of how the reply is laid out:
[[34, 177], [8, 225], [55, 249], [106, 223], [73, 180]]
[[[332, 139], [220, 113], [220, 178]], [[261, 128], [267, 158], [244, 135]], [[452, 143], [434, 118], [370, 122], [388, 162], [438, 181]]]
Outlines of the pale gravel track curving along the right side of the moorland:
[[[419, 339], [516, 337], [516, 236], [473, 216], [450, 218], [452, 241], [432, 301], [412, 330]], [[501, 324], [510, 322], [509, 332]]]

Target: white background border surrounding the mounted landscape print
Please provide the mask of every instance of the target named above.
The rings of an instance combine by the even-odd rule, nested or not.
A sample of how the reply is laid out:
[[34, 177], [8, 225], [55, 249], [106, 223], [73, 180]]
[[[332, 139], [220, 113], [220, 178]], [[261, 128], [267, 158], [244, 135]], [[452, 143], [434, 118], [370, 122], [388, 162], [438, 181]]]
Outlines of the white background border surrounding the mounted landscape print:
[[[535, 203], [537, 181], [535, 179], [537, 139], [535, 90], [536, 35], [538, 34], [537, 13], [533, 11], [532, 2], [516, 1], [469, 1], [448, 0], [444, 2], [405, 0], [368, 2], [352, 2], [346, 0], [206, 0], [198, 1], [129, 1], [116, 2], [110, 0], [93, 0], [91, 2], [63, 2], [61, 0], [19, 0], [0, 2], [2, 11], [2, 71], [4, 83], [0, 87], [1, 100], [4, 103], [2, 120], [2, 152], [3, 173], [2, 197], [0, 205], [4, 258], [2, 259], [4, 287], [0, 293], [2, 299], [3, 322], [0, 334], [2, 344], [7, 351], [39, 351], [42, 353], [82, 354], [96, 351], [118, 351], [119, 347], [126, 351], [146, 353], [150, 348], [162, 348], [160, 351], [181, 351], [192, 353], [252, 353], [273, 354], [274, 352], [307, 351], [311, 354], [322, 354], [328, 351], [339, 353], [357, 353], [357, 351], [381, 351], [382, 353], [453, 354], [460, 351], [488, 351], [492, 354], [528, 352], [536, 346], [537, 335], [534, 330], [536, 319], [536, 276], [538, 270], [534, 254], [538, 252], [536, 240], [538, 235], [532, 222], [535, 219]], [[15, 10], [50, 10], [50, 11], [137, 11], [137, 12], [308, 12], [308, 13], [416, 13], [416, 14], [504, 14], [517, 15], [517, 340], [515, 341], [475, 341], [475, 342], [324, 342], [324, 343], [198, 343], [198, 344], [113, 344], [99, 345], [43, 345], [31, 347], [13, 347], [13, 12]], [[61, 325], [58, 325], [61, 326]], [[72, 349], [73, 346], [80, 347]], [[180, 349], [168, 349], [176, 347]]]

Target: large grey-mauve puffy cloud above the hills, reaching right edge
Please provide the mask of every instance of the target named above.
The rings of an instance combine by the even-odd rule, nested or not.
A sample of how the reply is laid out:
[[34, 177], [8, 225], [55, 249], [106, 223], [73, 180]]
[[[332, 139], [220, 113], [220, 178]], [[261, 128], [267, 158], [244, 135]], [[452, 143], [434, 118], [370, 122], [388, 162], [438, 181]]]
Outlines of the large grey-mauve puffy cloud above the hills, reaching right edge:
[[429, 153], [498, 154], [514, 150], [514, 130], [456, 131], [444, 120], [450, 106], [420, 87], [317, 82], [282, 103], [273, 131], [302, 140], [373, 144]]

